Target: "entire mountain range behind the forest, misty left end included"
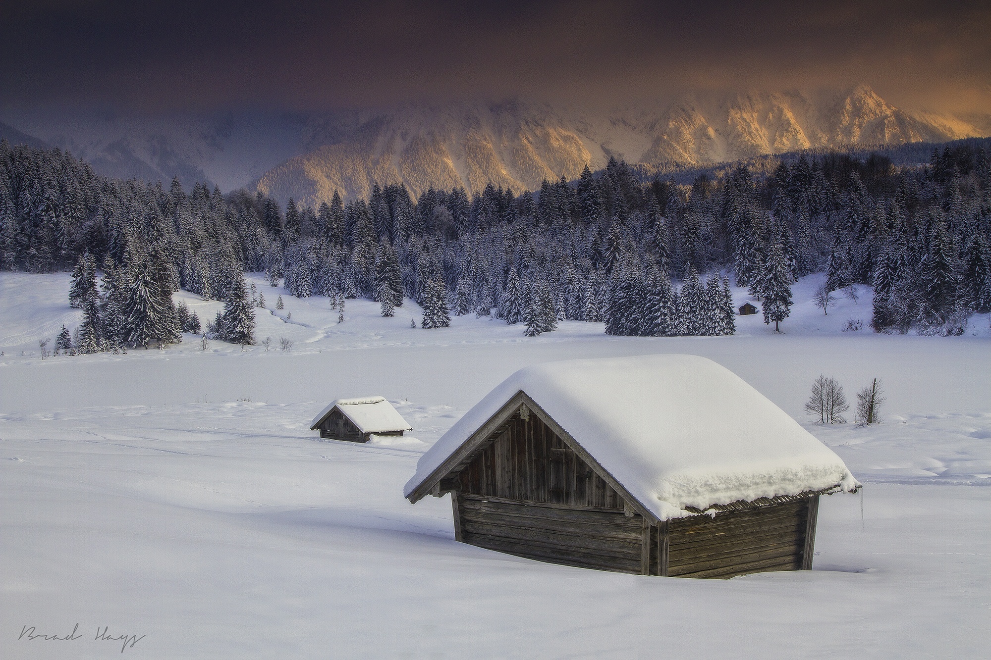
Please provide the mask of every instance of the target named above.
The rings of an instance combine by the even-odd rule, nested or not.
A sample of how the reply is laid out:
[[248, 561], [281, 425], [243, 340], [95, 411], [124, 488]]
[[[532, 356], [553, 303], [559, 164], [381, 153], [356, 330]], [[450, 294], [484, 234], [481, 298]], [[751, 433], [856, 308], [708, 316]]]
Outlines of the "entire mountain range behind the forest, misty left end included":
[[276, 112], [126, 117], [0, 116], [0, 136], [67, 149], [109, 176], [227, 191], [260, 190], [284, 203], [367, 197], [375, 182], [430, 186], [492, 181], [514, 191], [577, 178], [609, 157], [631, 164], [708, 165], [809, 148], [944, 142], [983, 136], [959, 118], [909, 112], [870, 87], [843, 91], [697, 94], [609, 110], [512, 99], [408, 103], [308, 116]]

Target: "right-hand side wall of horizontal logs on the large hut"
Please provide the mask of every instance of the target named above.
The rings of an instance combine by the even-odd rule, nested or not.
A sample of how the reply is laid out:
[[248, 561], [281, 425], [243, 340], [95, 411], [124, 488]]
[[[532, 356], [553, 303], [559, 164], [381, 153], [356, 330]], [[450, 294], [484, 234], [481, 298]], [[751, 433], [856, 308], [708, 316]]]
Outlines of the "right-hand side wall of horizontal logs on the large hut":
[[[803, 568], [810, 500], [671, 520], [667, 575], [729, 578]], [[813, 523], [815, 524], [815, 523]], [[811, 566], [811, 563], [810, 563]]]

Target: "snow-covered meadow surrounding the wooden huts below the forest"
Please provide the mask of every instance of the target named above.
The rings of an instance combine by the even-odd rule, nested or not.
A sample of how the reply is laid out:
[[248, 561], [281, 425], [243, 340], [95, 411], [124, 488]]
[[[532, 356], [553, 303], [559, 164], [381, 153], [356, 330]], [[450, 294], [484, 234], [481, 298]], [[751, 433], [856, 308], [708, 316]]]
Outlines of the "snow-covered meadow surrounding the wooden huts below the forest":
[[[328, 298], [248, 275], [270, 308], [284, 303], [257, 310], [268, 350], [187, 334], [43, 360], [39, 340], [80, 322], [69, 278], [0, 274], [0, 655], [986, 657], [988, 315], [958, 337], [878, 335], [870, 290], [824, 315], [822, 279], [795, 284], [786, 334], [757, 314], [727, 337], [578, 321], [524, 337], [474, 315], [412, 328], [422, 311], [408, 300], [392, 318], [348, 300], [338, 323]], [[174, 299], [204, 320], [223, 306]], [[517, 369], [658, 353], [727, 367], [864, 484], [823, 497], [812, 572], [707, 581], [543, 564], [455, 542], [448, 497], [402, 497], [422, 453]], [[882, 423], [812, 424], [820, 375], [849, 399], [881, 379]], [[413, 431], [355, 445], [309, 430], [331, 400], [367, 394]]]

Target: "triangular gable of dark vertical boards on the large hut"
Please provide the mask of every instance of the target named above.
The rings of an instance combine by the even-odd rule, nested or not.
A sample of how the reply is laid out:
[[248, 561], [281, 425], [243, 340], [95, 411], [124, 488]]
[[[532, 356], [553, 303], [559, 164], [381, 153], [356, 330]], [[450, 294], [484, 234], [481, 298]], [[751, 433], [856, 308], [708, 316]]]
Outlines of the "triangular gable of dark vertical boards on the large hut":
[[536, 414], [508, 428], [461, 471], [457, 490], [521, 501], [623, 508], [622, 497]]

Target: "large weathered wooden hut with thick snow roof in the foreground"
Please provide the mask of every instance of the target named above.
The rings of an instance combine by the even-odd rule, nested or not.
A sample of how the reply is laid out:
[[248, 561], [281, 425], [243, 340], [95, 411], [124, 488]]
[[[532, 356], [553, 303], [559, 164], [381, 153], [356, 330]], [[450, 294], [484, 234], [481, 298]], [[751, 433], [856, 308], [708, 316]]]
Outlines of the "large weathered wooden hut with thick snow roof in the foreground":
[[668, 355], [516, 372], [423, 455], [404, 495], [450, 493], [455, 538], [484, 548], [725, 578], [811, 569], [820, 495], [859, 488], [756, 389]]

